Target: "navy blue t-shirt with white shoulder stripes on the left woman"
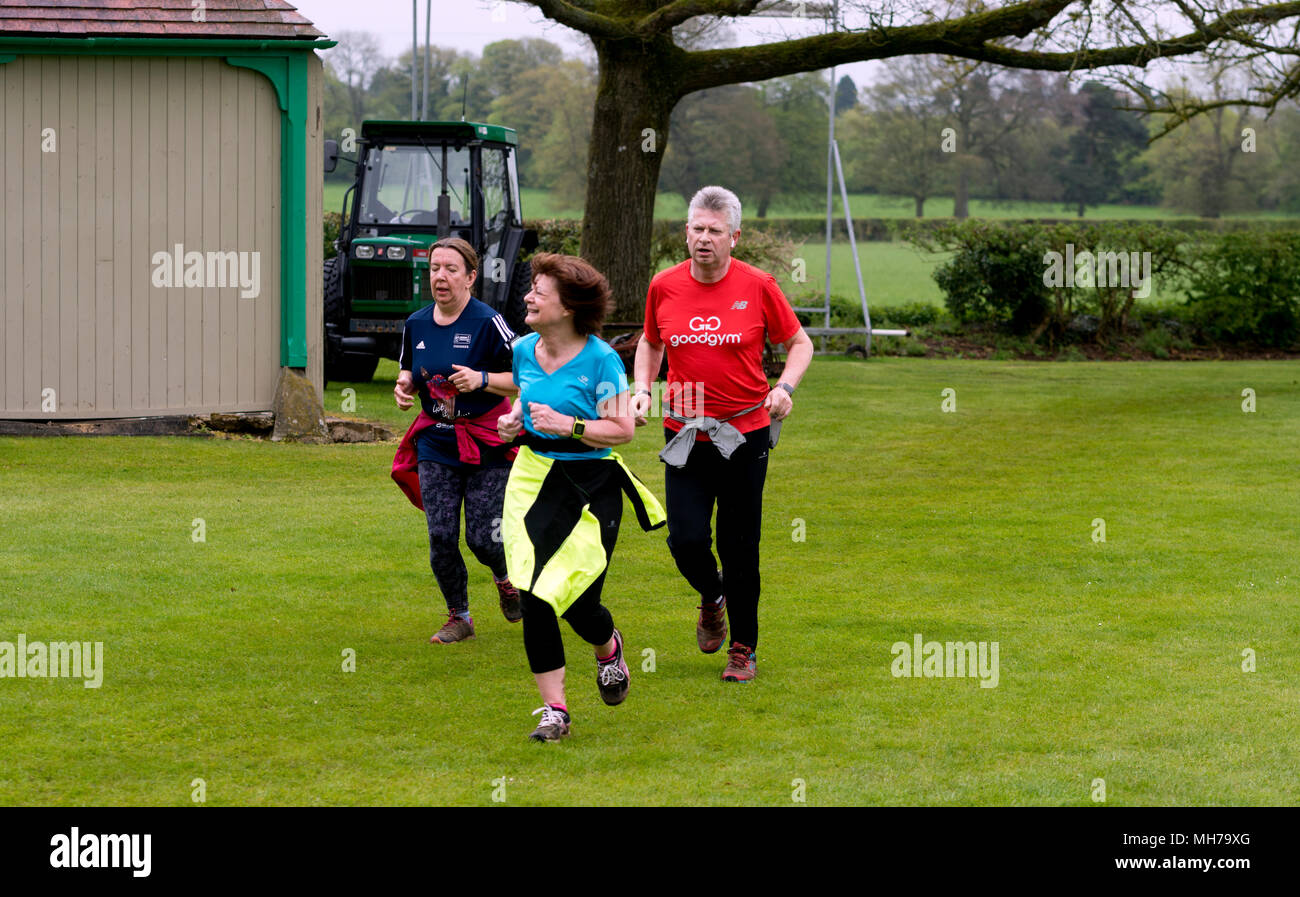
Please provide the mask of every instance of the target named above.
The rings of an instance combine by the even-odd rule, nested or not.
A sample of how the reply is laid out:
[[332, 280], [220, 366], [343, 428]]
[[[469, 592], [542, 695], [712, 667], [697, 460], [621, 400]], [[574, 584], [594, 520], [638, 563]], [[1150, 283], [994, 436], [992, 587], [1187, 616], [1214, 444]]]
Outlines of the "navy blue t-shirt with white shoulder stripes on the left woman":
[[[398, 365], [415, 378], [415, 391], [424, 412], [433, 417], [433, 426], [420, 432], [416, 442], [421, 462], [438, 462], [460, 467], [456, 448], [455, 417], [477, 417], [503, 399], [488, 390], [456, 393], [447, 380], [455, 373], [452, 364], [474, 370], [499, 373], [511, 370], [510, 343], [515, 338], [506, 318], [489, 306], [471, 296], [469, 304], [451, 324], [433, 320], [434, 304], [425, 306], [407, 318], [402, 332], [402, 358]], [[506, 467], [506, 446], [480, 446], [484, 467]]]

